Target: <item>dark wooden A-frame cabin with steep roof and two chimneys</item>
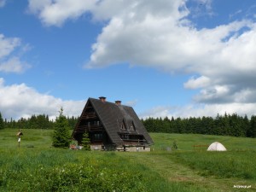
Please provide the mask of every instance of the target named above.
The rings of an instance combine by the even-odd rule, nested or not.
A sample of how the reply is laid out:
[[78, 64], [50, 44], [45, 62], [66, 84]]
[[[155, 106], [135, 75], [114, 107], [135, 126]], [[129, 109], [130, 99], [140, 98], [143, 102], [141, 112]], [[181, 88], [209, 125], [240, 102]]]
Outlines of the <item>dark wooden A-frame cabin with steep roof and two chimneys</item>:
[[81, 143], [88, 131], [92, 150], [150, 151], [153, 144], [133, 108], [106, 97], [89, 98], [73, 130], [73, 139]]

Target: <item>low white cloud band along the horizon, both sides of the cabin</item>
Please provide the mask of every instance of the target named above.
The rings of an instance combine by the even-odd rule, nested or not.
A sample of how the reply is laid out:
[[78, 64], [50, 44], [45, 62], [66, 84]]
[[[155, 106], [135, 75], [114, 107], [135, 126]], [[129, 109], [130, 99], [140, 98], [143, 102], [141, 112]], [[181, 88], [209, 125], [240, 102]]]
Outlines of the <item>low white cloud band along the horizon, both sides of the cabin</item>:
[[[251, 94], [249, 90], [245, 91]], [[253, 93], [254, 95], [254, 93]], [[64, 101], [55, 96], [39, 93], [26, 84], [5, 85], [4, 79], [0, 78], [0, 108], [3, 118], [20, 119], [28, 118], [32, 114], [48, 114], [50, 119], [55, 119], [61, 107], [64, 108], [65, 115], [79, 116], [84, 108], [85, 101]], [[242, 96], [240, 98], [242, 100]], [[226, 104], [207, 104], [207, 105], [189, 105], [189, 106], [160, 106], [151, 108], [144, 113], [140, 113], [140, 118], [148, 117], [200, 117], [212, 116], [217, 113], [237, 113], [248, 116], [255, 114], [255, 103], [226, 103]]]

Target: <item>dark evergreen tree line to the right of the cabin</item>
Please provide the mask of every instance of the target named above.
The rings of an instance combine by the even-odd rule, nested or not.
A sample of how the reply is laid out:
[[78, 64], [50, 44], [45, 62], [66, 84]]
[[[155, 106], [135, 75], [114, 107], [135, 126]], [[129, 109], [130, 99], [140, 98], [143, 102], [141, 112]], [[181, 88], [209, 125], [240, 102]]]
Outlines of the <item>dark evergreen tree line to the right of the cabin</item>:
[[217, 115], [217, 117], [168, 117], [142, 119], [148, 132], [194, 133], [232, 137], [256, 137], [256, 116], [241, 117], [236, 113]]

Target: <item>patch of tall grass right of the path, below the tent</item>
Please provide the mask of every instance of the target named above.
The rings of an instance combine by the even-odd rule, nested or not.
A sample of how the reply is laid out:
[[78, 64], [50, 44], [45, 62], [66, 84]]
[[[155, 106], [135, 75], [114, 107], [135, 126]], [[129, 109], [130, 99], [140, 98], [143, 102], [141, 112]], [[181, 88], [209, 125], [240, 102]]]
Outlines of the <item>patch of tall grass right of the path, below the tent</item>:
[[187, 152], [176, 153], [177, 162], [199, 170], [203, 176], [238, 177], [256, 181], [256, 152]]

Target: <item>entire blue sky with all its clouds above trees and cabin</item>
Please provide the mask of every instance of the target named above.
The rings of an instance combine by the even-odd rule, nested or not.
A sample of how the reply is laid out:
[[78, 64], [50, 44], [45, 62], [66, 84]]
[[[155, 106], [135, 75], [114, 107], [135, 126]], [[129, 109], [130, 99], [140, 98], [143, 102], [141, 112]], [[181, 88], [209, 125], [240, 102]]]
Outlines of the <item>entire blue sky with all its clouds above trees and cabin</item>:
[[254, 0], [0, 0], [0, 112], [255, 113]]

